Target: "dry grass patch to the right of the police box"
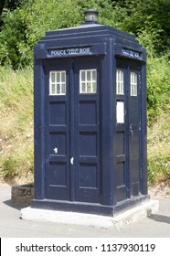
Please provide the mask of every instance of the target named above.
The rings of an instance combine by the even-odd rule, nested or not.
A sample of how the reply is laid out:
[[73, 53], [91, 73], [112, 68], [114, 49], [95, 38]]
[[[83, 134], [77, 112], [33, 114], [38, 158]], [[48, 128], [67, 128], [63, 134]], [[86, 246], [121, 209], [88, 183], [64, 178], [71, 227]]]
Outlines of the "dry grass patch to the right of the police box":
[[165, 182], [170, 185], [170, 114], [161, 113], [148, 129], [148, 180], [150, 184]]

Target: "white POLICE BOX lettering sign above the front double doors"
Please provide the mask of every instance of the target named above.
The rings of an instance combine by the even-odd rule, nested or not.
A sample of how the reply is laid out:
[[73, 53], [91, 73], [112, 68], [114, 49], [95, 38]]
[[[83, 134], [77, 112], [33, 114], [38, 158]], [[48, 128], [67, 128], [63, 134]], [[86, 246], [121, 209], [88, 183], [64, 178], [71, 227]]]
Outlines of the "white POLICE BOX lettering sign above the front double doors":
[[71, 56], [71, 55], [89, 55], [92, 52], [90, 48], [65, 48], [48, 50], [49, 57]]

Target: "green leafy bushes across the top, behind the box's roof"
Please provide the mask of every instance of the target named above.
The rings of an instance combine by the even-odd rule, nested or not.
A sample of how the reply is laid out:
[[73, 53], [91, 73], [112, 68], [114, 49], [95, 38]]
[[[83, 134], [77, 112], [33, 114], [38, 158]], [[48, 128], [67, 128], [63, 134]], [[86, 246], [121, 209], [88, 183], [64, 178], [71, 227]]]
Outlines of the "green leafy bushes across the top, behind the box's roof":
[[[25, 0], [13, 1], [2, 16], [0, 64], [14, 69], [32, 61], [32, 48], [48, 30], [78, 26], [83, 12], [96, 8], [100, 23], [118, 27], [143, 38], [144, 45], [160, 56], [170, 47], [169, 0]], [[149, 43], [149, 45], [148, 45]]]

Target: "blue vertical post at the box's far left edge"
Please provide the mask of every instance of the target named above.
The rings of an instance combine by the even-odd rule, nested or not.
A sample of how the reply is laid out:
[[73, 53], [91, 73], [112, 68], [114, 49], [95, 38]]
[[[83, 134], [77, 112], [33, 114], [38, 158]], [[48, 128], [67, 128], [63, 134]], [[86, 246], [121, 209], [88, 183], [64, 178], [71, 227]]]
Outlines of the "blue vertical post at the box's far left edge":
[[34, 62], [34, 155], [35, 155], [35, 199], [45, 197], [45, 152], [44, 152], [44, 70], [42, 60]]

